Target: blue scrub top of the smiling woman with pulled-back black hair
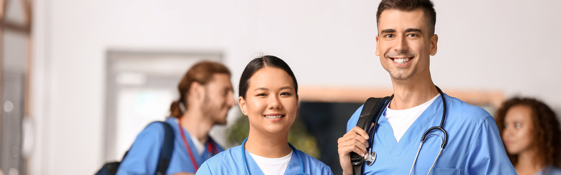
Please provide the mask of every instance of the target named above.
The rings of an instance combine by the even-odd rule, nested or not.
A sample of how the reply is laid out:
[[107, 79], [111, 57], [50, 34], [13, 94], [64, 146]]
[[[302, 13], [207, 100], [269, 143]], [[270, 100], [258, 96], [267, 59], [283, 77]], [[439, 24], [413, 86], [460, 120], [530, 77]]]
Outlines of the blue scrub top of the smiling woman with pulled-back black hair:
[[[206, 160], [197, 175], [199, 174], [247, 174], [245, 169], [245, 164], [243, 164], [242, 151], [245, 151], [245, 156], [247, 160], [247, 166], [249, 167], [250, 174], [264, 174], [259, 168], [259, 165], [255, 163], [253, 157], [243, 149], [242, 146], [236, 146], [230, 148], [222, 153], [218, 153], [216, 156]], [[304, 173], [314, 175], [314, 174], [333, 174], [331, 169], [323, 162], [318, 159], [313, 158], [306, 153], [297, 150], [298, 154], [302, 157], [302, 162], [304, 162]], [[300, 173], [300, 159], [296, 154], [292, 154], [290, 162], [288, 162], [288, 167], [284, 174], [296, 174]]]

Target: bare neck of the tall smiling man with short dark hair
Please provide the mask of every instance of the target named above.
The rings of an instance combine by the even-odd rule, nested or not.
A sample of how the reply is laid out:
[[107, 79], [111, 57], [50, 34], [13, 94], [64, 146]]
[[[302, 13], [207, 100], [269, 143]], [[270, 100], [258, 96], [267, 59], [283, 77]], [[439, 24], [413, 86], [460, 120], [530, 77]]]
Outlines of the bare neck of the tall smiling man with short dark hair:
[[418, 77], [407, 83], [392, 79], [392, 84], [394, 96], [389, 108], [394, 110], [416, 107], [438, 95], [438, 90], [436, 90], [433, 80], [430, 79], [430, 75], [425, 78]]

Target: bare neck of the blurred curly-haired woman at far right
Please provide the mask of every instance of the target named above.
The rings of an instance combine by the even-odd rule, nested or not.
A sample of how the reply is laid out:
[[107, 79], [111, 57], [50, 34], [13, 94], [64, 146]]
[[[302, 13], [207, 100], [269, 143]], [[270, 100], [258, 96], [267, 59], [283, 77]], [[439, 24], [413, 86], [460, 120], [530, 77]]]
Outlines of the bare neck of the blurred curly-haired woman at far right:
[[518, 154], [518, 162], [514, 167], [519, 175], [532, 175], [539, 172], [545, 167], [543, 161], [540, 161], [535, 150], [523, 151]]

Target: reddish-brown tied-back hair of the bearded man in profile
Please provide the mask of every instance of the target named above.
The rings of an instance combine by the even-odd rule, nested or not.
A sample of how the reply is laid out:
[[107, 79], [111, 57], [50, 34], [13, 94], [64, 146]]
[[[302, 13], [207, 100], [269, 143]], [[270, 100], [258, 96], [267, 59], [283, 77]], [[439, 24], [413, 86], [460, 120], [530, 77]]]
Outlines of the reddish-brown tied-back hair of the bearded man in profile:
[[[231, 76], [228, 67], [217, 62], [203, 61], [193, 65], [193, 67], [185, 73], [179, 85], [177, 85], [180, 98], [179, 100], [173, 101], [171, 107], [169, 107], [169, 116], [177, 118], [183, 116], [183, 112], [187, 110], [187, 93], [191, 88], [191, 84], [193, 82], [199, 82], [201, 85], [206, 85], [213, 80], [213, 75], [216, 73], [224, 73]], [[183, 105], [185, 109], [182, 110], [180, 105]]]

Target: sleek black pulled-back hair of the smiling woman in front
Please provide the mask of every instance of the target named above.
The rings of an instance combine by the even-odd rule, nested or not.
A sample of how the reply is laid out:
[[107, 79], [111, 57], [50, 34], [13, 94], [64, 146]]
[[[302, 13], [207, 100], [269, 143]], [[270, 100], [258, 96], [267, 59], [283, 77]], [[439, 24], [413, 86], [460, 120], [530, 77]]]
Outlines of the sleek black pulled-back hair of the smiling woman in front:
[[265, 67], [276, 67], [286, 71], [286, 73], [288, 73], [288, 75], [292, 77], [292, 81], [294, 82], [294, 90], [296, 92], [296, 95], [298, 95], [298, 82], [296, 82], [296, 76], [294, 76], [294, 73], [287, 65], [287, 63], [275, 56], [263, 56], [255, 58], [247, 63], [246, 68], [243, 70], [242, 76], [240, 77], [240, 86], [238, 88], [238, 94], [240, 94], [242, 98], [245, 99], [246, 97], [247, 88], [249, 88], [249, 79], [251, 78], [251, 76], [253, 76], [255, 72]]

